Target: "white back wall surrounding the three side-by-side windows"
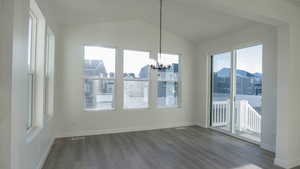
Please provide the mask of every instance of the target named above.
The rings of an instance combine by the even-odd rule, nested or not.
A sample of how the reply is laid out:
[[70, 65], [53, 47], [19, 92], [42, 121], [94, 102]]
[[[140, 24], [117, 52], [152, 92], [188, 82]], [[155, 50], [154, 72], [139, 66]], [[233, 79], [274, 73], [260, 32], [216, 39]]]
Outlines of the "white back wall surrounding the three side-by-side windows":
[[[182, 106], [157, 109], [155, 100], [149, 109], [124, 110], [121, 102], [122, 75], [117, 75], [117, 109], [114, 111], [83, 110], [83, 45], [102, 45], [157, 52], [158, 29], [139, 21], [121, 21], [93, 25], [71, 25], [63, 28], [59, 72], [59, 124], [58, 136], [87, 135], [105, 132], [144, 130], [190, 125], [193, 122], [193, 57], [196, 47], [173, 34], [164, 33], [167, 52], [182, 54]], [[167, 38], [166, 38], [167, 37]], [[166, 42], [167, 39], [167, 42]], [[121, 57], [119, 51], [117, 57]], [[118, 64], [117, 69], [120, 69]], [[152, 78], [155, 75], [152, 74]], [[150, 95], [156, 91], [151, 88]]]

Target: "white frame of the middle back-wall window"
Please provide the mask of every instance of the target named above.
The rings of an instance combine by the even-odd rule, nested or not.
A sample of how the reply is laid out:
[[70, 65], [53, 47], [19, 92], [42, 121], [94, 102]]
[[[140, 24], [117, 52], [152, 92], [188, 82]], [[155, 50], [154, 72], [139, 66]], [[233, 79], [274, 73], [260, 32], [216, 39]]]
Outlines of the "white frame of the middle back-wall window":
[[[142, 110], [142, 109], [150, 109], [150, 102], [151, 102], [151, 97], [150, 97], [150, 88], [151, 88], [151, 68], [150, 66], [148, 67], [148, 79], [142, 79], [142, 78], [136, 78], [136, 79], [129, 79], [129, 78], [124, 78], [124, 58], [125, 58], [125, 51], [135, 51], [135, 52], [144, 52], [144, 53], [148, 53], [148, 58], [151, 58], [151, 51], [148, 50], [140, 50], [140, 49], [129, 49], [129, 48], [123, 48], [122, 49], [122, 85], [123, 85], [123, 93], [122, 93], [122, 99], [123, 99], [123, 103], [122, 103], [122, 109], [124, 110]], [[137, 82], [148, 82], [148, 103], [147, 103], [147, 107], [125, 107], [125, 81], [137, 81]]]

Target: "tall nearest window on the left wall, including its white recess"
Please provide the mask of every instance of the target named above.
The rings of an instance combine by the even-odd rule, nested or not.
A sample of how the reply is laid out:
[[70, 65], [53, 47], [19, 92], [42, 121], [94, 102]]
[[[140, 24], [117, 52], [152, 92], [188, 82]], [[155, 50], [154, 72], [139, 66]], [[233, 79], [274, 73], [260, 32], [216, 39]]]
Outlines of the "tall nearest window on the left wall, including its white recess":
[[43, 127], [45, 112], [45, 35], [46, 21], [34, 0], [30, 1], [28, 18], [28, 114], [27, 132]]

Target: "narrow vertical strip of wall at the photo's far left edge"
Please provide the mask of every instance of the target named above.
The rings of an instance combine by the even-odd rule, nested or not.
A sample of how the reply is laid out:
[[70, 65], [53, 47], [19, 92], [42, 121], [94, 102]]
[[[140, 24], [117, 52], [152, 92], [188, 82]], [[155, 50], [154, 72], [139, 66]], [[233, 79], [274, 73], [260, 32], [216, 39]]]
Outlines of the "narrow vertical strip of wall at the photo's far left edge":
[[9, 169], [11, 160], [10, 84], [13, 1], [0, 2], [0, 168]]

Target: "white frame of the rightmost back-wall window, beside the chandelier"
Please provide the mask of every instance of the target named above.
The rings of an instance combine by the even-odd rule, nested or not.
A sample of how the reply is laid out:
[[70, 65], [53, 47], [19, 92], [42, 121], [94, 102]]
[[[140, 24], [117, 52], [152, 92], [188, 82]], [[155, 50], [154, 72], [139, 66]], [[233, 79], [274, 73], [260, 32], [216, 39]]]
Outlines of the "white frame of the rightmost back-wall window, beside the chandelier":
[[[155, 105], [156, 105], [156, 108], [157, 109], [172, 109], [172, 108], [174, 108], [174, 109], [177, 109], [177, 108], [181, 108], [182, 107], [182, 102], [181, 102], [181, 97], [182, 97], [182, 95], [181, 95], [181, 91], [182, 91], [182, 88], [181, 88], [181, 85], [182, 85], [182, 62], [181, 62], [181, 60], [182, 60], [182, 54], [178, 54], [178, 53], [169, 53], [169, 52], [163, 52], [162, 54], [166, 54], [166, 55], [177, 55], [178, 56], [178, 77], [177, 77], [177, 80], [161, 80], [161, 79], [159, 79], [159, 77], [158, 77], [158, 74], [159, 74], [159, 72], [157, 71], [157, 72], [155, 72], [155, 75], [157, 76], [157, 81], [156, 81], [156, 86], [157, 86], [157, 88], [156, 88], [156, 97], [155, 97]], [[158, 58], [158, 56], [159, 56], [159, 53], [156, 53], [156, 57]], [[159, 82], [172, 82], [172, 83], [174, 83], [174, 82], [177, 82], [177, 104], [175, 105], [175, 106], [159, 106], [158, 105], [158, 83]]]

